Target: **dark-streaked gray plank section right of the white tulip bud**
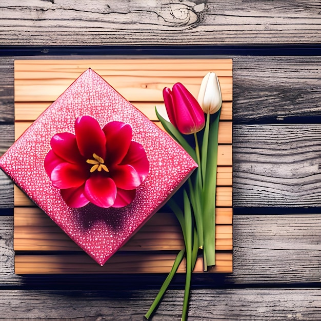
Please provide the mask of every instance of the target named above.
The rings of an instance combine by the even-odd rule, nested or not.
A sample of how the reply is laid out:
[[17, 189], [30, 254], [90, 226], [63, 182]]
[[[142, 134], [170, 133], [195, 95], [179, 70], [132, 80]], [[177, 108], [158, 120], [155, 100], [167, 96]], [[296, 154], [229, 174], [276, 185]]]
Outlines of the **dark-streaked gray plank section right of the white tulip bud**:
[[321, 57], [234, 57], [233, 121], [319, 124], [320, 81]]

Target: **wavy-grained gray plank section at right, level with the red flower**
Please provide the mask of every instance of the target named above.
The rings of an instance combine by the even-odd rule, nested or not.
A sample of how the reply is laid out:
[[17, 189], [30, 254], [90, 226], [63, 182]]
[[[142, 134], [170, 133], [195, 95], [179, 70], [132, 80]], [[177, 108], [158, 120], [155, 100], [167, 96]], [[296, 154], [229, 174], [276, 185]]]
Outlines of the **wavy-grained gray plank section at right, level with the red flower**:
[[321, 125], [234, 125], [233, 206], [320, 207]]

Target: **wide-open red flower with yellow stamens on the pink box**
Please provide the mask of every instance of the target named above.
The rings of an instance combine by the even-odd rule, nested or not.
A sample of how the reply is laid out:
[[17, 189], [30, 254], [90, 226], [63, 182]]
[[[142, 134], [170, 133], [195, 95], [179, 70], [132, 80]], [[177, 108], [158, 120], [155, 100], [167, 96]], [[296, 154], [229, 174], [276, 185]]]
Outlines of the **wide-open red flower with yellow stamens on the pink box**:
[[96, 119], [78, 117], [75, 135], [55, 134], [50, 145], [45, 170], [70, 207], [89, 202], [104, 208], [124, 207], [149, 171], [145, 150], [132, 141], [131, 126], [122, 122], [110, 122], [101, 129]]

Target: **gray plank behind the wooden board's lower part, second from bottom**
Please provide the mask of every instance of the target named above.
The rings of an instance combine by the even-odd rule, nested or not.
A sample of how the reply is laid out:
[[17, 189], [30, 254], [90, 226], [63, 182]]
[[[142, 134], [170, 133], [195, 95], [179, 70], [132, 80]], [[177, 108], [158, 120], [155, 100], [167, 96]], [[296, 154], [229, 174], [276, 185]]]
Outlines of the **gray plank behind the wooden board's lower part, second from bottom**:
[[[102, 280], [114, 286], [126, 287], [129, 276], [14, 275], [13, 218], [0, 216], [0, 284], [34, 285], [70, 288], [81, 282], [85, 287], [101, 287]], [[292, 215], [234, 215], [233, 218], [233, 273], [194, 274], [198, 285], [262, 285], [309, 284], [321, 281], [321, 216], [318, 214]], [[137, 275], [135, 278], [144, 279]], [[147, 279], [151, 280], [149, 276]], [[184, 279], [184, 277], [183, 277]], [[44, 283], [44, 280], [45, 283]], [[135, 283], [134, 280], [132, 282]], [[161, 282], [161, 278], [158, 279]], [[182, 277], [177, 282], [182, 282]], [[184, 282], [184, 280], [183, 280]], [[137, 286], [137, 283], [135, 283]], [[148, 286], [145, 284], [144, 286]]]

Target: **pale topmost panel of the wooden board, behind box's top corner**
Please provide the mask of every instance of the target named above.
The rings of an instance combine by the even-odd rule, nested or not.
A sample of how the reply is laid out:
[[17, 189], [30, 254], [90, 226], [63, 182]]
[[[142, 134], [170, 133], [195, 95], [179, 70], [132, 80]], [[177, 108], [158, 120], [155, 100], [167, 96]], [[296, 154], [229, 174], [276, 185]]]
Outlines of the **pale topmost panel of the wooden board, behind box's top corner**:
[[16, 102], [55, 101], [91, 68], [130, 102], [163, 102], [163, 88], [184, 84], [197, 97], [202, 78], [215, 71], [223, 101], [232, 101], [231, 59], [113, 59], [15, 61]]

